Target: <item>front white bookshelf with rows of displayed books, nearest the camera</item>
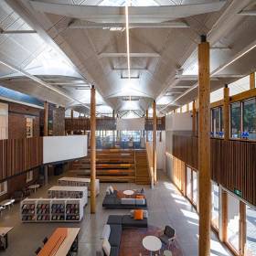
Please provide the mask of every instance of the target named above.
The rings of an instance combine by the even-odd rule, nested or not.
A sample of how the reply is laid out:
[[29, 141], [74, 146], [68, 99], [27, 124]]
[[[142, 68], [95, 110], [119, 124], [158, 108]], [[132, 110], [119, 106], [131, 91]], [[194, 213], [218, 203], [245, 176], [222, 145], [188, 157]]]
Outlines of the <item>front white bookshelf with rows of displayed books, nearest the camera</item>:
[[22, 222], [79, 222], [83, 204], [81, 198], [26, 198], [20, 216]]

